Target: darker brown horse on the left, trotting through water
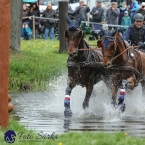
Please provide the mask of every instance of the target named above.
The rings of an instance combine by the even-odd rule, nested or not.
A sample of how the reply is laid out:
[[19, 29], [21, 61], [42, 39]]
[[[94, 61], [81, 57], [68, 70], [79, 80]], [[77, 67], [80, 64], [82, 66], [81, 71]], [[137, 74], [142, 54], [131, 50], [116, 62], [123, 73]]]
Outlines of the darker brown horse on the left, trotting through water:
[[68, 17], [66, 17], [66, 20], [69, 25], [68, 30], [65, 32], [69, 56], [67, 61], [68, 79], [64, 99], [64, 116], [71, 117], [70, 95], [72, 89], [76, 85], [86, 87], [86, 96], [83, 101], [83, 109], [86, 110], [89, 107], [93, 86], [101, 80], [106, 80], [107, 83], [109, 74], [102, 64], [102, 54], [97, 49], [91, 49], [84, 39], [80, 27], [81, 18], [77, 22], [71, 21]]

